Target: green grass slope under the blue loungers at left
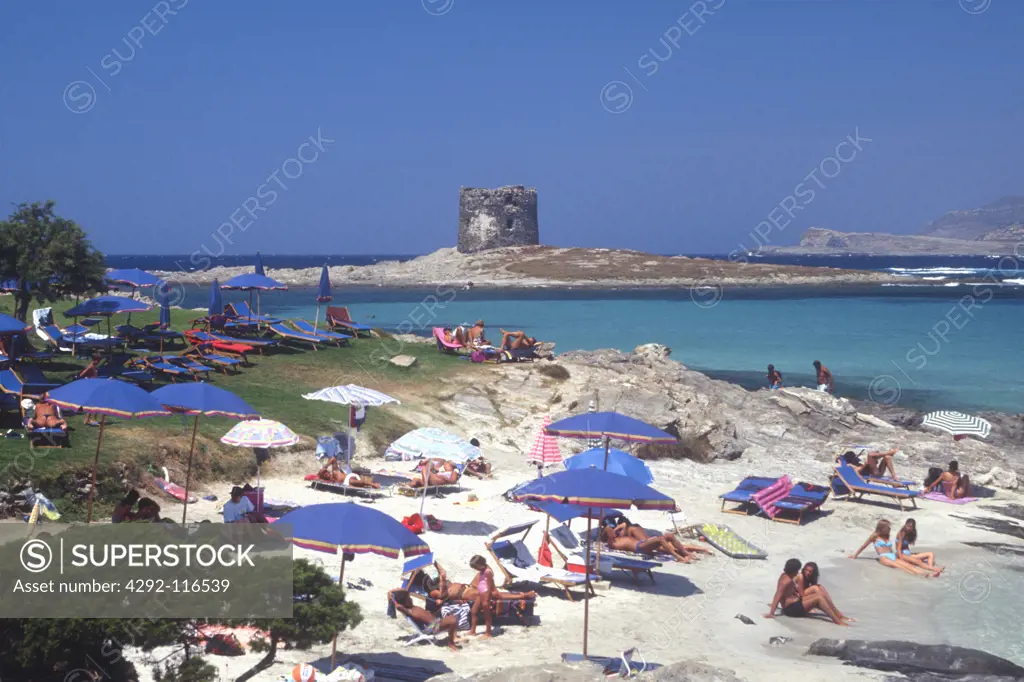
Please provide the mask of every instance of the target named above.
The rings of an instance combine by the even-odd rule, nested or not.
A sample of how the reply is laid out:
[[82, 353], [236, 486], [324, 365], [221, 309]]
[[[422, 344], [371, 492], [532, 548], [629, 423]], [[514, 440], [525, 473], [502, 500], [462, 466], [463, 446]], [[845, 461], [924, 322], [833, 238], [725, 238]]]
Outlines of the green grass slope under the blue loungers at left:
[[[0, 310], [10, 313], [12, 300], [0, 297]], [[71, 302], [53, 304], [54, 319], [63, 326], [66, 319], [58, 311], [71, 307]], [[38, 307], [38, 306], [33, 306]], [[172, 328], [185, 330], [190, 321], [201, 316], [200, 311], [172, 310]], [[120, 324], [119, 315], [114, 324]], [[136, 326], [155, 323], [156, 310], [133, 313]], [[97, 333], [105, 333], [105, 323], [97, 326]], [[33, 334], [34, 336], [34, 334]], [[41, 348], [42, 340], [33, 338]], [[177, 349], [180, 350], [180, 345]], [[396, 353], [417, 357], [409, 369], [396, 368], [383, 358]], [[432, 379], [466, 367], [450, 355], [438, 353], [430, 344], [399, 344], [393, 339], [357, 339], [348, 347], [328, 347], [312, 350], [301, 347], [281, 346], [268, 350], [266, 355], [253, 354], [252, 367], [243, 368], [240, 374], [224, 376], [211, 374], [211, 381], [230, 390], [249, 402], [261, 416], [280, 421], [293, 431], [310, 439], [316, 435], [343, 430], [347, 423], [347, 409], [342, 406], [305, 400], [308, 393], [327, 386], [358, 384], [384, 392], [401, 393], [403, 387], [429, 383]], [[85, 360], [67, 354], [54, 357], [51, 363], [40, 364], [48, 377], [58, 381], [73, 378], [85, 366]], [[165, 380], [158, 379], [158, 385]], [[7, 415], [3, 428], [19, 426], [16, 415]], [[96, 450], [98, 430], [84, 425], [81, 416], [69, 419], [73, 431], [72, 446], [62, 449], [30, 450], [26, 439], [0, 438], [0, 485], [13, 481], [31, 480], [37, 489], [48, 493], [47, 487], [60, 487], [60, 482], [88, 470]], [[108, 418], [100, 450], [100, 471], [105, 497], [120, 493], [120, 467], [125, 475], [137, 481], [148, 466], [166, 466], [175, 482], [183, 483], [184, 464], [187, 458], [193, 418], [180, 416], [159, 417], [124, 421]], [[219, 441], [234, 421], [225, 418], [200, 418], [196, 457], [193, 461], [194, 480], [241, 477], [254, 468], [254, 458], [248, 449], [236, 449]], [[364, 430], [374, 445], [390, 442], [404, 433], [409, 425], [393, 411], [371, 410]], [[309, 441], [310, 445], [312, 440]], [[59, 506], [59, 505], [58, 505]]]

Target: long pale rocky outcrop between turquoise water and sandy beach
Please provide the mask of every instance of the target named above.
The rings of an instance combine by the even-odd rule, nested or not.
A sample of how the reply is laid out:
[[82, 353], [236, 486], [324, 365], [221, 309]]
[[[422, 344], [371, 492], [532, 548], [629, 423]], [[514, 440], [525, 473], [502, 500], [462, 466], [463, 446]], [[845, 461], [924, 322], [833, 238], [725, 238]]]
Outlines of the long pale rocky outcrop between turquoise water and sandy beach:
[[640, 446], [638, 454], [648, 459], [740, 460], [752, 471], [821, 480], [836, 455], [863, 444], [899, 447], [897, 470], [919, 480], [929, 467], [945, 468], [953, 458], [973, 476], [994, 472], [983, 479], [995, 487], [1015, 489], [1018, 476], [1024, 476], [1019, 439], [993, 435], [989, 441], [954, 443], [948, 435], [891, 423], [815, 390], [749, 391], [710, 379], [673, 360], [670, 352], [646, 344], [629, 353], [572, 351], [555, 361], [499, 365], [487, 368], [493, 376], [486, 381], [442, 381], [435, 404], [447, 423], [512, 449], [531, 441], [542, 415], [557, 420], [593, 402], [598, 411], [639, 417], [679, 436], [671, 446]]

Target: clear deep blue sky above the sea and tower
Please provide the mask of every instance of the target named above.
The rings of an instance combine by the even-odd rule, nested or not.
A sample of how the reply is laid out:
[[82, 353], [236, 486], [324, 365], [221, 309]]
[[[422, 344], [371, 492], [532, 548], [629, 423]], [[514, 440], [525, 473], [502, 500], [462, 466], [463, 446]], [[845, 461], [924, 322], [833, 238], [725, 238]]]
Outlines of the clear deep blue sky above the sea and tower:
[[538, 187], [548, 244], [669, 253], [753, 245], [801, 182], [772, 243], [1024, 195], [1016, 0], [35, 0], [0, 26], [0, 202], [54, 199], [109, 253], [216, 252], [221, 225], [227, 253], [422, 253], [460, 185]]

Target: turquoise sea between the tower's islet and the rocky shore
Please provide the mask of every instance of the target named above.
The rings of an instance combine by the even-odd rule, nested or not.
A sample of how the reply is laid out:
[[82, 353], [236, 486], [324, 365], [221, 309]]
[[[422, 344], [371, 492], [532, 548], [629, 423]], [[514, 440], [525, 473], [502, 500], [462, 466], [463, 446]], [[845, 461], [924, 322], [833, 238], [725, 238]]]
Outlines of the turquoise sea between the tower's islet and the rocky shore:
[[[334, 304], [388, 330], [483, 318], [488, 336], [523, 329], [556, 351], [663, 343], [687, 367], [756, 388], [769, 363], [788, 385], [813, 383], [820, 359], [836, 392], [919, 409], [1024, 412], [1024, 290], [948, 282], [816, 290], [579, 291], [335, 288]], [[244, 294], [224, 292], [225, 301]], [[205, 291], [186, 305], [203, 306]], [[262, 297], [264, 311], [312, 318], [311, 289]]]

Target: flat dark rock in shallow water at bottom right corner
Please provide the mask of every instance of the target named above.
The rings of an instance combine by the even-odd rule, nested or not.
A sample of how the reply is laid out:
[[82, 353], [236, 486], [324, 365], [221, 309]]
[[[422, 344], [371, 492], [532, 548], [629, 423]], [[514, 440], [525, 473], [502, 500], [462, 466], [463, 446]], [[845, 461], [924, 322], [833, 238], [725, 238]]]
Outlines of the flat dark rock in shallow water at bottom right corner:
[[819, 639], [811, 644], [807, 652], [818, 656], [835, 656], [861, 668], [906, 675], [931, 673], [953, 676], [953, 679], [962, 679], [967, 675], [1024, 679], [1024, 668], [1013, 662], [961, 646]]

